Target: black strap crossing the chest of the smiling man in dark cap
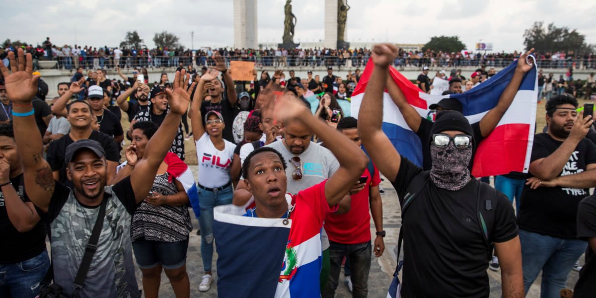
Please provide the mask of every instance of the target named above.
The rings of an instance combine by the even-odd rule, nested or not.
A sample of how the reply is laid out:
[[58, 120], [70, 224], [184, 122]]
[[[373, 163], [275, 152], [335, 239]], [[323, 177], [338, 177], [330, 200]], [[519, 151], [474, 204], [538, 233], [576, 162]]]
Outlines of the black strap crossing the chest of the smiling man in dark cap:
[[93, 232], [91, 232], [91, 237], [89, 237], [89, 242], [85, 247], [85, 254], [83, 254], [83, 260], [80, 262], [79, 271], [76, 273], [75, 282], [73, 283], [75, 284], [73, 297], [77, 297], [79, 291], [83, 288], [83, 285], [85, 285], [87, 272], [89, 271], [89, 267], [91, 267], [91, 261], [93, 260], [95, 250], [97, 250], [97, 243], [100, 241], [101, 229], [104, 226], [105, 205], [108, 201], [107, 197], [109, 197], [109, 195], [107, 195], [107, 193], [104, 194], [104, 199], [101, 201], [100, 212], [97, 214], [97, 219], [95, 219]]

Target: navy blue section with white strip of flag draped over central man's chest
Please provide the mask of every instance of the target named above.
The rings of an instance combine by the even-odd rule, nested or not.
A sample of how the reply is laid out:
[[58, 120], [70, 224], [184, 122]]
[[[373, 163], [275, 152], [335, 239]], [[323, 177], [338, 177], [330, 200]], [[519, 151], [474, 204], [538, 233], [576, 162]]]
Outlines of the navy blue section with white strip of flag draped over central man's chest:
[[219, 297], [275, 297], [291, 223], [241, 216], [234, 205], [213, 213]]

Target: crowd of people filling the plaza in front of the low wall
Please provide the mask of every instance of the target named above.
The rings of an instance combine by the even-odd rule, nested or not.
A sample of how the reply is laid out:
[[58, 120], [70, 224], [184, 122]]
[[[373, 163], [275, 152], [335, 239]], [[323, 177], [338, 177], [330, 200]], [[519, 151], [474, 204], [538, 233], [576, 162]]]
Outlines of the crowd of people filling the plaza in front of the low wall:
[[[230, 206], [257, 226], [291, 226], [258, 254], [259, 262], [274, 263], [273, 282], [242, 285], [247, 293], [269, 287], [275, 297], [334, 297], [346, 283], [353, 297], [367, 297], [373, 256], [385, 253], [382, 201], [398, 200], [402, 297], [488, 297], [489, 268], [501, 272], [503, 297], [523, 297], [541, 271], [541, 296], [560, 297], [569, 272], [581, 268], [573, 297], [592, 297], [596, 131], [593, 115], [577, 111], [578, 94], [559, 93], [554, 78], [540, 73], [539, 86], [556, 92], [546, 90], [547, 128], [535, 136], [529, 172], [496, 176], [495, 188], [470, 173], [476, 148], [535, 67], [526, 59], [532, 52], [517, 54], [496, 106], [470, 123], [454, 98], [430, 107], [434, 121], [421, 117], [389, 79], [389, 66], [402, 55], [390, 44], [362, 52], [375, 67], [358, 119], [342, 107], [360, 70], [344, 81], [333, 75], [336, 64], [324, 64], [322, 78], [277, 70], [239, 82], [225, 52], [207, 51], [212, 67], [178, 67], [171, 81], [164, 73], [152, 87], [139, 66], [131, 77], [119, 72], [118, 82], [101, 66], [85, 77], [79, 64], [47, 105], [33, 55], [11, 51], [0, 64], [0, 269], [7, 272], [0, 296], [141, 297], [135, 261], [145, 297], [159, 296], [162, 271], [176, 297], [189, 297], [191, 284], [200, 291], [214, 280], [229, 287], [230, 278], [257, 272], [224, 274], [218, 262], [215, 278], [214, 250], [219, 259], [254, 264], [255, 255], [242, 247], [265, 236], [233, 239], [233, 250], [220, 247], [215, 213]], [[423, 66], [418, 87], [430, 92], [440, 77], [449, 82], [443, 95], [466, 92], [496, 73], [480, 67], [467, 80], [454, 69], [430, 79], [429, 71]], [[381, 129], [385, 90], [423, 144], [422, 167], [401, 156]], [[189, 186], [184, 141], [191, 138], [198, 171]], [[381, 196], [381, 175], [398, 197]], [[198, 281], [186, 268], [190, 206], [201, 237]], [[226, 290], [218, 287], [219, 294]]]

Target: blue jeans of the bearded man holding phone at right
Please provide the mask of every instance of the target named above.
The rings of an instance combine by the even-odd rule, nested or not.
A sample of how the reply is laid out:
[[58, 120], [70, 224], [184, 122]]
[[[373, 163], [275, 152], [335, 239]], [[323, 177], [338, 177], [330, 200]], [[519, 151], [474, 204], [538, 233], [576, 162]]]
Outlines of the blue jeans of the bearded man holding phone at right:
[[524, 290], [536, 280], [542, 270], [541, 298], [559, 298], [575, 262], [586, 251], [588, 243], [576, 239], [561, 239], [519, 230], [522, 243]]

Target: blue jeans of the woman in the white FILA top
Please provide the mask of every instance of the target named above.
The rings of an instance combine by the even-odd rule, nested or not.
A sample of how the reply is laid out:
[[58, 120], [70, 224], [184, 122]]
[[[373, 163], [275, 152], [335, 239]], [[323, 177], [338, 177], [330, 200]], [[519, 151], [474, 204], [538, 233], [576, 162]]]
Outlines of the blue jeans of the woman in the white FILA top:
[[221, 191], [198, 188], [198, 203], [201, 205], [198, 225], [201, 227], [201, 259], [205, 272], [211, 271], [213, 262], [213, 207], [231, 204], [233, 195], [231, 185]]

